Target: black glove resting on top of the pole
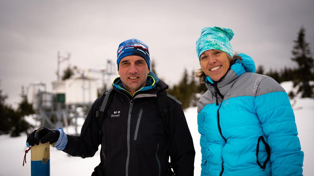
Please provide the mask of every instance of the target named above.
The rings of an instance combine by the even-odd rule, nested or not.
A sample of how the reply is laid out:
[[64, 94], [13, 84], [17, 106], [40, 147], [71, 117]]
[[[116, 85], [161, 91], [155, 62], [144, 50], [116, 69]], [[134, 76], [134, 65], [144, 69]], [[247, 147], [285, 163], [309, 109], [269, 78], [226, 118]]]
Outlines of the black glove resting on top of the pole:
[[26, 139], [26, 146], [29, 147], [38, 145], [39, 142], [46, 143], [50, 141], [50, 144], [53, 144], [58, 141], [60, 136], [60, 132], [58, 130], [52, 130], [49, 128], [39, 128], [38, 130], [34, 130]]

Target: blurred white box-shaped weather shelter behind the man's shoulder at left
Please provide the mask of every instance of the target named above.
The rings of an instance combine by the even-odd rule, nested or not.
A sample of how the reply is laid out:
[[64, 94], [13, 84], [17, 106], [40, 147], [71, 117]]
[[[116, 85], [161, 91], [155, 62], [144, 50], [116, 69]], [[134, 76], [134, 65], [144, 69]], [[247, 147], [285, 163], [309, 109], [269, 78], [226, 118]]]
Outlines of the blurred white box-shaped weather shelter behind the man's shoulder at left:
[[97, 81], [95, 78], [72, 77], [64, 80], [65, 103], [89, 104], [93, 103], [97, 96]]

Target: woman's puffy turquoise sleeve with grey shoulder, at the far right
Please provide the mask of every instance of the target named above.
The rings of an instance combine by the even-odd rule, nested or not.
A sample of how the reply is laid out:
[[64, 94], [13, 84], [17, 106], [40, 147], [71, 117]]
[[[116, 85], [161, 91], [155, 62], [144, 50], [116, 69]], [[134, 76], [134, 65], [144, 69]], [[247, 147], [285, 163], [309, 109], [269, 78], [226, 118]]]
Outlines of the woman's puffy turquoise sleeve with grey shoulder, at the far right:
[[258, 85], [254, 106], [271, 149], [272, 175], [302, 175], [304, 154], [287, 93], [266, 77]]

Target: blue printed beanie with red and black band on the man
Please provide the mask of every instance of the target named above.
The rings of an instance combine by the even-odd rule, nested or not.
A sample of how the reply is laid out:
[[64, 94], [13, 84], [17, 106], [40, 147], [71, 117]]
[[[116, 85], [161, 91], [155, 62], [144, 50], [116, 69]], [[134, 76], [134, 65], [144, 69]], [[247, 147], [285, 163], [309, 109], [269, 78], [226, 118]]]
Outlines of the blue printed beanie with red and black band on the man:
[[148, 69], [150, 70], [150, 58], [149, 58], [149, 51], [148, 46], [138, 39], [129, 39], [122, 42], [117, 50], [117, 65], [119, 70], [119, 63], [122, 58], [130, 55], [137, 55], [142, 57], [147, 65]]

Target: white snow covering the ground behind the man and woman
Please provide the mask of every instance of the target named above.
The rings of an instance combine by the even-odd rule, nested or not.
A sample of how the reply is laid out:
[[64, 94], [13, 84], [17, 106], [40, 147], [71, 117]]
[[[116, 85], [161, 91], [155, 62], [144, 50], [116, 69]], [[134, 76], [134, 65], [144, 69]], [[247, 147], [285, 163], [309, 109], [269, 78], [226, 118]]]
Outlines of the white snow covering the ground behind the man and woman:
[[[291, 82], [284, 82], [281, 84], [284, 89], [289, 92], [292, 89]], [[314, 144], [313, 129], [314, 124], [314, 99], [299, 98], [291, 100], [295, 113], [295, 122], [297, 124], [299, 138], [301, 142], [302, 151], [304, 152], [303, 175], [313, 175], [314, 167]], [[195, 164], [194, 175], [200, 175], [201, 152], [199, 146], [199, 133], [197, 128], [197, 107], [191, 107], [185, 110], [185, 116], [192, 133], [194, 147], [195, 147]], [[30, 118], [30, 117], [29, 117]], [[82, 124], [84, 119], [78, 119], [78, 124]], [[67, 133], [74, 133], [73, 127], [65, 129]], [[79, 130], [80, 131], [80, 130]], [[9, 137], [9, 135], [0, 135], [0, 176], [16, 176], [16, 175], [30, 175], [30, 153], [26, 156], [27, 163], [24, 167], [23, 158], [26, 134], [20, 137]], [[86, 176], [91, 175], [95, 166], [100, 162], [99, 151], [92, 158], [82, 159], [80, 157], [71, 157], [68, 154], [50, 148], [50, 173], [51, 175], [76, 175]]]

